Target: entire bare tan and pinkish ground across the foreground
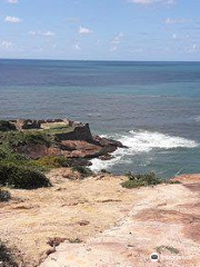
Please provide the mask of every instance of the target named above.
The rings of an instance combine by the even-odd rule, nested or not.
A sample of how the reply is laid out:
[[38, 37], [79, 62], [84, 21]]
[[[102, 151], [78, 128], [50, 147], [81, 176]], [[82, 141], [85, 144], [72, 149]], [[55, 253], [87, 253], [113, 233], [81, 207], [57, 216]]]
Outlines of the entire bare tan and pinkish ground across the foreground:
[[[20, 250], [22, 266], [200, 266], [200, 175], [180, 177], [181, 185], [124, 189], [124, 177], [70, 181], [68, 172], [53, 170], [52, 188], [11, 190], [13, 199], [0, 206], [0, 237]], [[47, 257], [54, 237], [82, 243], [64, 241]]]

